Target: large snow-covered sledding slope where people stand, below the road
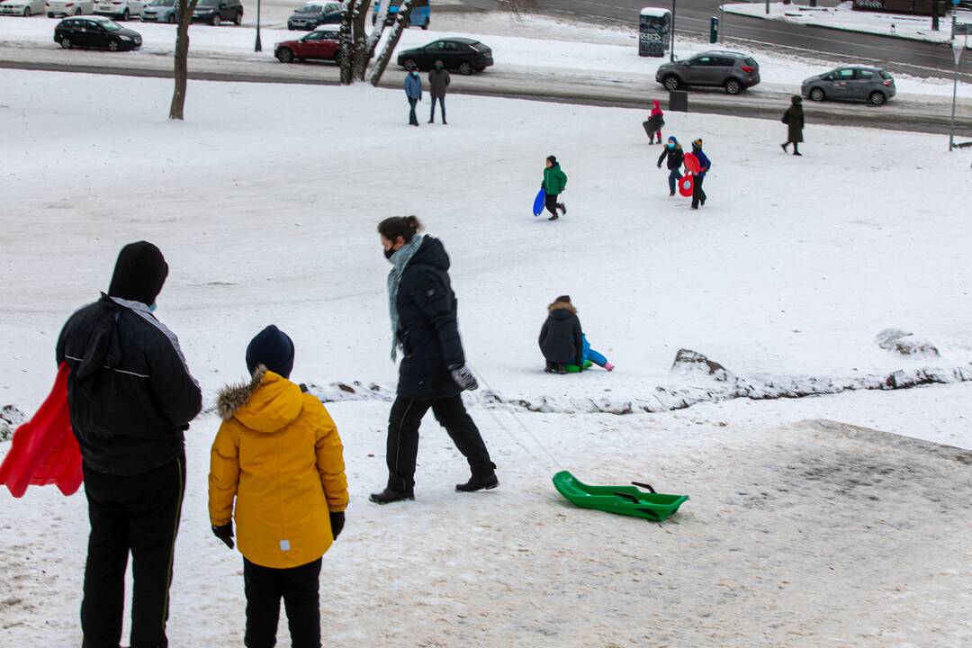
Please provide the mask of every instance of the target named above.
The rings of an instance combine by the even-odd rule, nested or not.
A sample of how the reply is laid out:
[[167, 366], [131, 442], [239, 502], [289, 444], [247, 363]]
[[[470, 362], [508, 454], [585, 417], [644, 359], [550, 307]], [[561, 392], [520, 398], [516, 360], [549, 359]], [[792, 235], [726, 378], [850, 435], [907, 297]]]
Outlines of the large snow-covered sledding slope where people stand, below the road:
[[[972, 636], [970, 455], [801, 423], [972, 448], [972, 384], [720, 402], [735, 379], [670, 369], [688, 348], [764, 388], [968, 371], [967, 152], [811, 124], [797, 158], [780, 150], [781, 124], [670, 114], [666, 135], [703, 137], [712, 157], [710, 200], [692, 212], [668, 196], [636, 111], [458, 95], [449, 126], [416, 129], [396, 91], [193, 82], [189, 120], [173, 123], [164, 81], [0, 70], [0, 87], [0, 406], [36, 407], [60, 325], [139, 238], [169, 260], [158, 315], [207, 401], [242, 377], [246, 343], [269, 323], [295, 339], [296, 379], [323, 392], [377, 385], [330, 404], [353, 497], [322, 579], [334, 645], [957, 647]], [[556, 223], [530, 214], [550, 153], [570, 178]], [[503, 488], [452, 493], [464, 464], [430, 420], [419, 499], [379, 509], [365, 500], [382, 485], [396, 371], [374, 227], [402, 214], [452, 256], [469, 361], [488, 381], [468, 399]], [[614, 373], [542, 373], [536, 337], [562, 293]], [[882, 349], [889, 327], [938, 355]], [[709, 395], [681, 411], [591, 413], [679, 391]], [[542, 403], [549, 412], [529, 411]], [[205, 514], [216, 428], [205, 415], [189, 434], [177, 646], [241, 643], [241, 565]], [[580, 511], [552, 491], [555, 463], [692, 499], [662, 526]], [[77, 645], [83, 496], [0, 493], [0, 529], [0, 644]]]

